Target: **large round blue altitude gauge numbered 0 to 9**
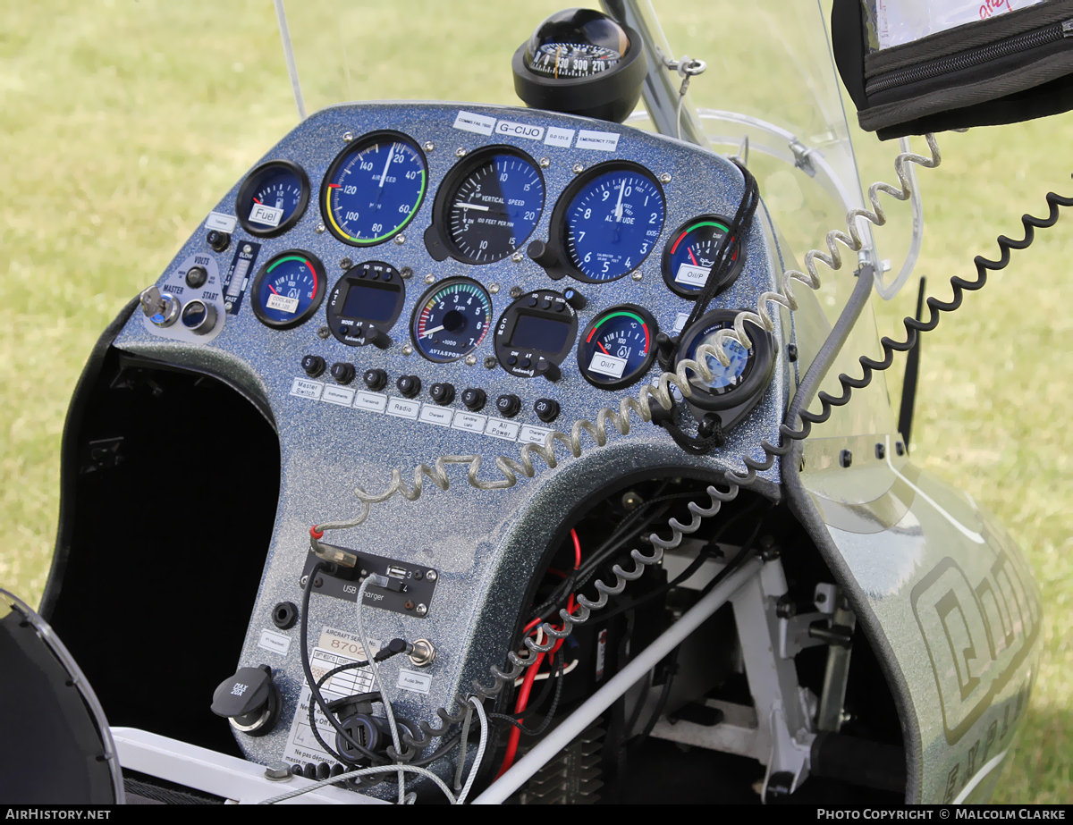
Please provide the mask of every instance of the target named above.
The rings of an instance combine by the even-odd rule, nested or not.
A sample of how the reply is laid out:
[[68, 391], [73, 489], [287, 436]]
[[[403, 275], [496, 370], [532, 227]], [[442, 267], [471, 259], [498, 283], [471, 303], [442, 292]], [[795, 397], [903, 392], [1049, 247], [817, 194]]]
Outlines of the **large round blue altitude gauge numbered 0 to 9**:
[[[561, 204], [565, 207], [561, 208]], [[580, 281], [613, 281], [636, 269], [663, 231], [663, 190], [633, 163], [602, 163], [560, 201], [558, 231], [568, 269]]]

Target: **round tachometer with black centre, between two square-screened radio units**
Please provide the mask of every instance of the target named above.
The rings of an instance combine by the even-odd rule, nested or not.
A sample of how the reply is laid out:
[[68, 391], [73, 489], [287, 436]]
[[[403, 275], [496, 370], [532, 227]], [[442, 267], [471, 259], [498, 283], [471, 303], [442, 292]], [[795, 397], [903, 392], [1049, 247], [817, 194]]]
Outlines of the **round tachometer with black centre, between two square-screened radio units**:
[[490, 325], [491, 298], [484, 286], [469, 278], [451, 278], [422, 296], [410, 327], [417, 352], [443, 364], [473, 352]]

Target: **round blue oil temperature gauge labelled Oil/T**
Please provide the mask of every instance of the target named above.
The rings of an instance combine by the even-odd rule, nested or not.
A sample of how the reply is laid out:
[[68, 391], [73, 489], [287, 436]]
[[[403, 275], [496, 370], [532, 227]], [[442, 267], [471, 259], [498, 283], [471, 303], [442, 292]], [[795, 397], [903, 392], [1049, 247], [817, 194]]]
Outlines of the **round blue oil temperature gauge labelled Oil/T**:
[[636, 383], [656, 359], [659, 327], [652, 314], [633, 304], [604, 310], [582, 332], [577, 368], [600, 389]]

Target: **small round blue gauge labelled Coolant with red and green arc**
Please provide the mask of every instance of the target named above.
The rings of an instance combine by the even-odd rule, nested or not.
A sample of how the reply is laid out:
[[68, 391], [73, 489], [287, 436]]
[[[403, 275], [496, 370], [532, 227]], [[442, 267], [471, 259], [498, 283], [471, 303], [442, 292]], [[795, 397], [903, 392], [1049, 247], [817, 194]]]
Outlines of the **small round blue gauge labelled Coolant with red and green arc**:
[[302, 249], [282, 252], [258, 271], [250, 305], [265, 326], [290, 329], [312, 315], [325, 289], [324, 265]]

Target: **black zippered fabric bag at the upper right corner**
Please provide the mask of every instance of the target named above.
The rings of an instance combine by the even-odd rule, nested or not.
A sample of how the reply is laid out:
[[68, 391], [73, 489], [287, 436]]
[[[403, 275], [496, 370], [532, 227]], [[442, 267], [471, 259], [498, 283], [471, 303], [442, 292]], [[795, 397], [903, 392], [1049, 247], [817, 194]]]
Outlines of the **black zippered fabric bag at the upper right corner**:
[[868, 30], [865, 3], [834, 0], [832, 45], [861, 128], [881, 139], [1073, 108], [1073, 0], [1047, 0], [882, 49]]

